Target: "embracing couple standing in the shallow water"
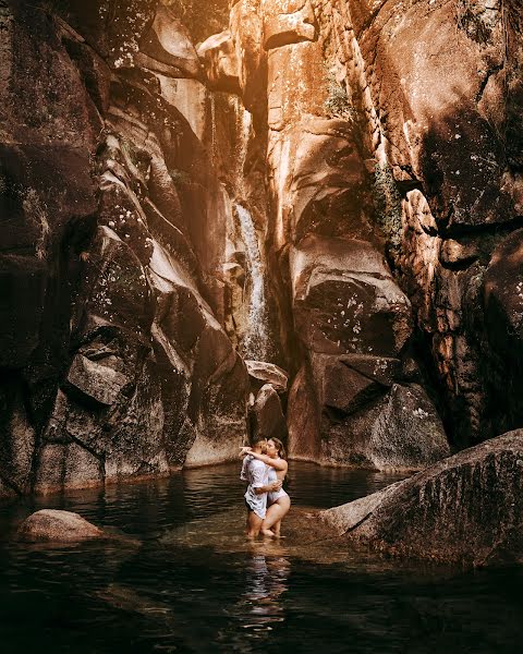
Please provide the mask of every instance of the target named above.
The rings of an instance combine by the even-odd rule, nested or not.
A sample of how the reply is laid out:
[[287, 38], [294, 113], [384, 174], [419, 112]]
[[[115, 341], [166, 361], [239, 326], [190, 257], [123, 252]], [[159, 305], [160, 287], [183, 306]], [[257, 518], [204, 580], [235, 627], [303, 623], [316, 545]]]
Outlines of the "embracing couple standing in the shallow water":
[[247, 537], [279, 537], [281, 520], [291, 508], [291, 498], [282, 488], [288, 463], [278, 438], [258, 436], [253, 447], [242, 448], [241, 479], [248, 483], [244, 495], [247, 508]]

